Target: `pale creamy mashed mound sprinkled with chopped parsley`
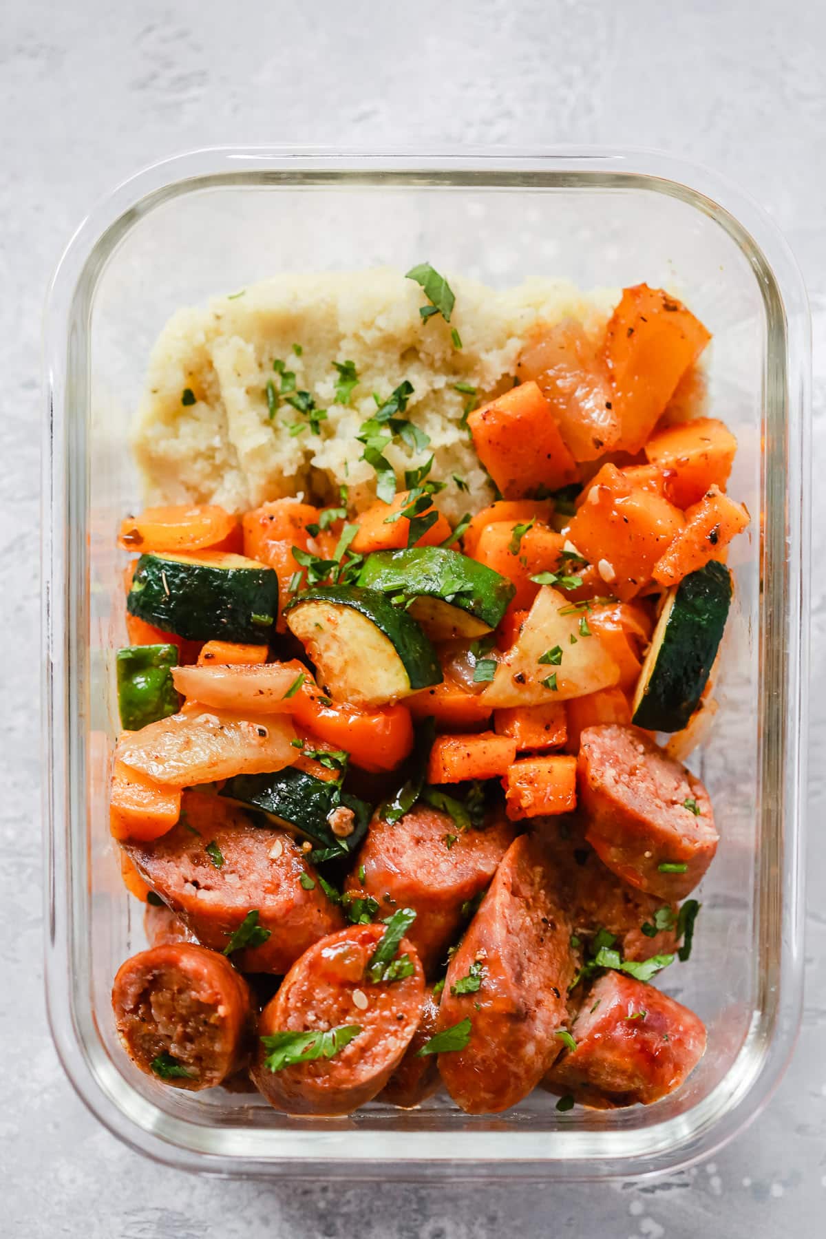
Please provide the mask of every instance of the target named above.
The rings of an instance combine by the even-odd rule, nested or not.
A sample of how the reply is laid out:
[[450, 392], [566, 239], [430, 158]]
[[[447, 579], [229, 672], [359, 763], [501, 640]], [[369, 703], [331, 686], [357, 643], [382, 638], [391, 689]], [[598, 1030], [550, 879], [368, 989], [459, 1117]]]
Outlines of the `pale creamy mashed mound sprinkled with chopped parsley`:
[[[400, 442], [388, 447], [400, 486], [404, 471], [433, 452], [432, 476], [448, 482], [437, 501], [446, 515], [482, 508], [493, 489], [461, 425], [468, 401], [482, 403], [511, 385], [533, 323], [573, 317], [596, 333], [618, 294], [585, 295], [550, 280], [497, 292], [452, 273], [448, 279], [456, 294], [450, 326], [438, 315], [422, 322], [422, 290], [389, 268], [284, 274], [180, 310], [152, 349], [134, 426], [146, 502], [219, 503], [244, 512], [301, 491], [326, 502], [347, 484], [362, 508], [375, 494], [375, 472], [360, 460], [359, 426], [375, 411], [374, 393], [384, 400], [407, 379], [414, 393], [405, 416], [430, 436], [430, 446], [419, 453]], [[451, 327], [462, 348], [453, 347]], [[346, 361], [355, 364], [358, 385], [344, 405], [336, 403], [333, 362]], [[284, 396], [270, 418], [267, 380], [276, 393], [282, 382], [274, 362], [295, 374], [297, 392], [327, 410], [318, 435]], [[457, 392], [457, 383], [476, 388], [477, 396]], [[183, 403], [187, 388], [194, 403]]]

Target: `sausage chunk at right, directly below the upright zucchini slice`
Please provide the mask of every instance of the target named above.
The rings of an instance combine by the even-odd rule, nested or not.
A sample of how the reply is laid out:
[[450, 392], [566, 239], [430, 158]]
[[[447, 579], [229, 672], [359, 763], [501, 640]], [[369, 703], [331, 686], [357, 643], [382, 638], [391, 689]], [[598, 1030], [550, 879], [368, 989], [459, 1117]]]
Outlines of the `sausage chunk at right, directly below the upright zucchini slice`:
[[693, 891], [719, 838], [698, 778], [639, 729], [607, 724], [582, 732], [578, 786], [587, 839], [608, 869], [664, 900]]

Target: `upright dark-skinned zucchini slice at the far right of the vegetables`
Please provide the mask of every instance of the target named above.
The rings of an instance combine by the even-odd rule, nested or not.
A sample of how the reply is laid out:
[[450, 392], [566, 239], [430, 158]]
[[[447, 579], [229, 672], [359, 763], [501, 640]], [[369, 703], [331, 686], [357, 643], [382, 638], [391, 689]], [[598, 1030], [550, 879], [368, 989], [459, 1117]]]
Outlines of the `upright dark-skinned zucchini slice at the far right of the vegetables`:
[[681, 731], [700, 704], [732, 601], [732, 576], [712, 560], [669, 590], [634, 694], [633, 722]]

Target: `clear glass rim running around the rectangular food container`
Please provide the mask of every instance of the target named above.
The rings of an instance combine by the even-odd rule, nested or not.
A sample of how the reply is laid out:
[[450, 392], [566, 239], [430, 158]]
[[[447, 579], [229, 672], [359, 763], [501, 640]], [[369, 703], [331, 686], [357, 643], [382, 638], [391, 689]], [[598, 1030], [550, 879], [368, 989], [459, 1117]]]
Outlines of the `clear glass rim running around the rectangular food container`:
[[[405, 187], [451, 185], [484, 187], [495, 180], [508, 187], [577, 187], [583, 180], [601, 186], [645, 188], [681, 198], [713, 218], [748, 258], [767, 312], [783, 325], [785, 357], [783, 399], [788, 477], [773, 499], [785, 503], [786, 527], [767, 538], [763, 565], [791, 564], [793, 574], [776, 574], [767, 589], [762, 631], [768, 621], [775, 643], [774, 667], [784, 676], [783, 700], [772, 721], [783, 735], [783, 839], [773, 856], [776, 895], [784, 906], [776, 975], [767, 1000], [773, 1004], [773, 1036], [764, 1051], [757, 1027], [747, 1036], [738, 1059], [736, 1084], [728, 1077], [687, 1114], [638, 1131], [608, 1134], [604, 1154], [594, 1152], [594, 1134], [567, 1131], [566, 1147], [547, 1156], [546, 1137], [508, 1131], [508, 1156], [497, 1149], [499, 1132], [474, 1132], [473, 1155], [463, 1157], [453, 1132], [381, 1131], [383, 1157], [375, 1140], [354, 1151], [358, 1132], [331, 1129], [282, 1132], [238, 1129], [228, 1134], [225, 1151], [212, 1151], [208, 1125], [165, 1115], [136, 1094], [110, 1063], [92, 1063], [82, 1048], [72, 992], [69, 961], [74, 932], [68, 881], [61, 881], [56, 857], [66, 850], [77, 815], [68, 788], [71, 729], [83, 725], [77, 685], [68, 655], [69, 608], [83, 581], [73, 572], [71, 513], [63, 470], [63, 447], [72, 427], [62, 416], [69, 309], [94, 286], [111, 252], [115, 234], [182, 191], [249, 183]], [[786, 363], [791, 366], [786, 369]], [[473, 1180], [505, 1172], [526, 1180], [646, 1178], [685, 1167], [728, 1142], [767, 1104], [794, 1047], [802, 999], [802, 814], [806, 788], [807, 620], [809, 620], [809, 492], [810, 492], [810, 322], [802, 276], [791, 252], [768, 214], [716, 172], [674, 156], [644, 149], [463, 147], [461, 155], [441, 149], [432, 154], [359, 149], [260, 146], [212, 147], [161, 160], [123, 181], [82, 221], [51, 281], [45, 330], [45, 420], [41, 496], [42, 633], [46, 657], [41, 675], [42, 809], [47, 866], [45, 883], [46, 985], [52, 1037], [61, 1062], [80, 1099], [113, 1134], [134, 1149], [185, 1170], [218, 1173], [316, 1177], [318, 1173], [357, 1178]], [[767, 479], [772, 484], [772, 479]], [[788, 488], [788, 496], [785, 494]], [[794, 498], [800, 494], [799, 506]], [[793, 501], [790, 503], [789, 501]], [[788, 639], [790, 636], [798, 639]], [[785, 638], [785, 639], [784, 639]], [[764, 777], [767, 772], [764, 771]], [[768, 772], [772, 773], [772, 772]], [[776, 771], [774, 771], [776, 776]], [[755, 1012], [755, 1021], [759, 1012]], [[732, 1074], [733, 1068], [729, 1070]], [[129, 1094], [129, 1097], [126, 1097]], [[225, 1132], [227, 1134], [227, 1132]], [[606, 1135], [606, 1134], [599, 1134]], [[667, 1135], [667, 1140], [665, 1140]], [[279, 1139], [280, 1137], [280, 1139]], [[618, 1147], [618, 1141], [623, 1147]]]

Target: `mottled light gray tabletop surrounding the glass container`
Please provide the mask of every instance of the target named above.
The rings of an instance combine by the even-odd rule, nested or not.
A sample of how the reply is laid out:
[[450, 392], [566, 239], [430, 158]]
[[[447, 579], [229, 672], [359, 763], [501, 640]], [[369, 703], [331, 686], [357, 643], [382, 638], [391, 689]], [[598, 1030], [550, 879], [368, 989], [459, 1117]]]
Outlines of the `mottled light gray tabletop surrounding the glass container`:
[[[199, 1180], [120, 1146], [46, 1028], [37, 787], [40, 330], [77, 222], [206, 145], [632, 144], [723, 170], [785, 229], [826, 432], [826, 7], [812, 0], [6, 0], [0, 17], [0, 1234], [809, 1239], [826, 1213], [826, 534], [815, 520], [806, 1006], [764, 1114], [654, 1184], [327, 1188]], [[819, 487], [816, 486], [816, 491]], [[816, 501], [817, 502], [817, 501]], [[822, 508], [820, 509], [822, 512]]]

